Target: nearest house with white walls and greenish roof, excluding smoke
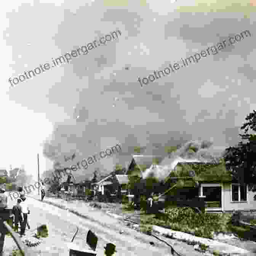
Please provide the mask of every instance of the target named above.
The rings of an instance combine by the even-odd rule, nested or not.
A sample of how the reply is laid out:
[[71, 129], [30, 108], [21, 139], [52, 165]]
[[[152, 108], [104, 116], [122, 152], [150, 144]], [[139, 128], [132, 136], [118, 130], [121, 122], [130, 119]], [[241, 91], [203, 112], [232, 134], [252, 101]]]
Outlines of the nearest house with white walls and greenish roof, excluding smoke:
[[[192, 178], [195, 176], [198, 185]], [[255, 192], [238, 181], [226, 170], [224, 164], [179, 162], [170, 172], [169, 178], [187, 178], [181, 189], [168, 193], [167, 198], [203, 197], [206, 211], [256, 210]], [[175, 195], [174, 195], [175, 194]]]

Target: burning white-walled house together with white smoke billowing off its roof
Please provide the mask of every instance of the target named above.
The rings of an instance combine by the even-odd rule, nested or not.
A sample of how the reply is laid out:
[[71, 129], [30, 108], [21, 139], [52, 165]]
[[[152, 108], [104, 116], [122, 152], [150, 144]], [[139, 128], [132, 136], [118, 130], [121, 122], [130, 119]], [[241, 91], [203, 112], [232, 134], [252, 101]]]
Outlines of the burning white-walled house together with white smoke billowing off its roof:
[[178, 199], [203, 198], [206, 211], [256, 210], [255, 192], [249, 191], [246, 184], [239, 184], [223, 161], [207, 154], [210, 145], [188, 142], [160, 165], [146, 169], [142, 177], [155, 177], [169, 187], [177, 185], [165, 195], [167, 204]]

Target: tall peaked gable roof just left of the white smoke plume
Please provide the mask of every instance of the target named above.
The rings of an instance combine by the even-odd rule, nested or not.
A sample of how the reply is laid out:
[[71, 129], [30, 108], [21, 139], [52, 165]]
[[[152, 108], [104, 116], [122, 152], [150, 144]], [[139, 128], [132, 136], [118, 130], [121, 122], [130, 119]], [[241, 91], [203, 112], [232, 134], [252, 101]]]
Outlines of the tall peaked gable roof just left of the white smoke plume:
[[[126, 174], [137, 174], [140, 176], [141, 171], [144, 171], [147, 168], [149, 168], [152, 165], [152, 163], [157, 162], [158, 164], [160, 164], [163, 158], [163, 156], [158, 155], [133, 155], [133, 160], [131, 161]], [[139, 170], [134, 170], [134, 168], [132, 168], [132, 166], [134, 165], [137, 165], [139, 167]]]

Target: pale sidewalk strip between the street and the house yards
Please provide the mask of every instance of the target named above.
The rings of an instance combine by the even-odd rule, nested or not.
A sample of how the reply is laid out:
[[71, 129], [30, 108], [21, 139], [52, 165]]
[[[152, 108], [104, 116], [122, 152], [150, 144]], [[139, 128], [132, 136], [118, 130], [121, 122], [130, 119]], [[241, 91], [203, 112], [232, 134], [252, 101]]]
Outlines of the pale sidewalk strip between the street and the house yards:
[[[38, 201], [40, 201], [40, 197], [38, 195], [27, 195], [28, 197], [34, 198]], [[81, 202], [81, 201], [69, 201], [60, 199], [60, 198], [45, 198], [43, 200], [44, 203], [49, 203], [51, 205], [57, 206], [62, 209], [67, 209], [70, 212], [76, 214], [77, 216], [90, 219], [91, 221], [98, 222], [102, 226], [110, 226], [112, 229], [115, 228], [116, 230], [123, 230], [125, 233], [134, 235], [134, 230], [129, 229], [127, 227], [123, 227], [120, 224], [120, 219], [123, 219], [122, 216], [119, 216], [117, 214], [112, 213], [104, 213], [101, 210], [92, 208], [89, 206], [89, 203]], [[190, 235], [184, 232], [179, 232], [171, 229], [165, 229], [163, 227], [158, 226], [152, 226], [153, 230], [159, 232], [160, 234], [168, 234], [171, 237], [182, 240], [186, 242], [195, 241], [198, 243], [203, 243], [207, 246], [209, 246], [208, 251], [213, 253], [213, 251], [218, 251], [219, 255], [241, 255], [241, 254], [247, 254], [250, 253], [250, 251], [244, 250], [242, 248], [238, 248], [236, 246], [229, 245], [227, 243], [221, 243], [217, 242], [211, 239], [202, 238], [202, 237], [196, 237], [194, 235]], [[140, 233], [136, 232], [136, 237], [140, 237]], [[142, 237], [140, 237], [142, 240]], [[256, 255], [256, 254], [250, 254], [250, 255]]]

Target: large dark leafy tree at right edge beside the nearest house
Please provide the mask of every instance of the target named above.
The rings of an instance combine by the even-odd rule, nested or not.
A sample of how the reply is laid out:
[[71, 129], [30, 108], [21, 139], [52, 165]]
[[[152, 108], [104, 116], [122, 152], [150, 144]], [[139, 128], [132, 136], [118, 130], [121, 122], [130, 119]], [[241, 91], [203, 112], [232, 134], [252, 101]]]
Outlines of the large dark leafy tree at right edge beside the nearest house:
[[[248, 184], [251, 190], [256, 185], [256, 134], [249, 134], [249, 129], [256, 132], [256, 111], [245, 118], [241, 126], [244, 134], [239, 134], [242, 141], [237, 146], [225, 150], [226, 167], [232, 172], [239, 183]], [[254, 190], [254, 189], [253, 189]]]

